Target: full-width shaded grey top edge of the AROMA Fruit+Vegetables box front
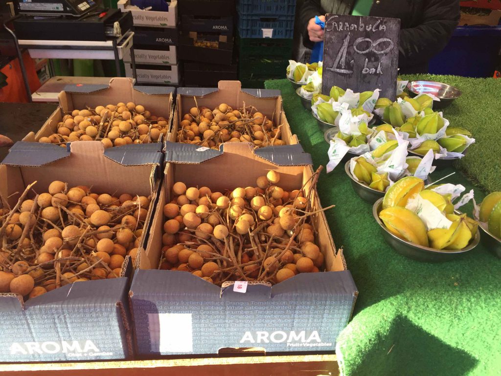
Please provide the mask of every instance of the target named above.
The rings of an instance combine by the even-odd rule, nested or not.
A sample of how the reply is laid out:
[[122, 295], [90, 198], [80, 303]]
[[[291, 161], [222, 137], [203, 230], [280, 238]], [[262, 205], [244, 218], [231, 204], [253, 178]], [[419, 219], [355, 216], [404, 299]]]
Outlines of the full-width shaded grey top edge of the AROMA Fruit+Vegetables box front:
[[[348, 270], [338, 272], [322, 273], [300, 273], [293, 278], [276, 284], [275, 286], [249, 285], [249, 292], [271, 298], [276, 295], [342, 295], [355, 297], [358, 294], [357, 286]], [[241, 294], [236, 292], [236, 296]], [[217, 295], [226, 298], [233, 295], [232, 286], [221, 290], [220, 287], [213, 285], [201, 278], [197, 278], [189, 272], [170, 271], [170, 270], [136, 270], [131, 285], [131, 296], [134, 300], [142, 299], [147, 296], [162, 295]], [[228, 296], [229, 295], [229, 296]], [[248, 295], [246, 295], [248, 298]]]

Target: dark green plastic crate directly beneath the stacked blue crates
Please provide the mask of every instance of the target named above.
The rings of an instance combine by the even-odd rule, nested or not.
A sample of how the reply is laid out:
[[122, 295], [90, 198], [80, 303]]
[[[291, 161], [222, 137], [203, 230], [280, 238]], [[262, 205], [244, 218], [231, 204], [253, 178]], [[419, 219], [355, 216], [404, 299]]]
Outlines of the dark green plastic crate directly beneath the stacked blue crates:
[[279, 57], [288, 60], [292, 56], [293, 42], [293, 39], [236, 38], [240, 59]]

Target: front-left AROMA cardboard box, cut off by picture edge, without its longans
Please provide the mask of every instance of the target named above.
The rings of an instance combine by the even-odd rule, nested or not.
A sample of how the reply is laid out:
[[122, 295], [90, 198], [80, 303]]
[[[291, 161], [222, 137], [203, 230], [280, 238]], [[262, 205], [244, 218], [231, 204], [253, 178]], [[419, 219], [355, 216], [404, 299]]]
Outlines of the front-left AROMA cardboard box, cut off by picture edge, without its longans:
[[[0, 165], [0, 194], [14, 208], [28, 184], [27, 199], [48, 192], [54, 180], [87, 185], [94, 193], [130, 193], [157, 200], [161, 153], [104, 151], [99, 141], [73, 142], [67, 150], [52, 146], [40, 152], [18, 142]], [[50, 146], [50, 145], [49, 145]], [[5, 203], [4, 203], [5, 205]], [[150, 223], [154, 204], [146, 223]], [[147, 226], [145, 226], [147, 230]], [[147, 231], [140, 240], [145, 244]], [[131, 261], [126, 257], [119, 278], [63, 285], [24, 301], [0, 294], [0, 361], [67, 361], [124, 359], [132, 354], [128, 291]], [[3, 268], [1, 268], [3, 269]]]

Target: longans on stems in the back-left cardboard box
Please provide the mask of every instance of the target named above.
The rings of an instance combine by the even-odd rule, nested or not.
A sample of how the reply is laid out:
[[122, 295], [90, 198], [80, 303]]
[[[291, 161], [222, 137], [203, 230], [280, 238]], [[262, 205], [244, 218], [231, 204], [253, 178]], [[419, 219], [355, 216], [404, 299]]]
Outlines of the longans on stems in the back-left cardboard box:
[[166, 135], [169, 122], [133, 102], [108, 104], [85, 110], [73, 110], [58, 123], [56, 133], [39, 142], [65, 146], [70, 141], [101, 140], [105, 148], [131, 143], [157, 142]]

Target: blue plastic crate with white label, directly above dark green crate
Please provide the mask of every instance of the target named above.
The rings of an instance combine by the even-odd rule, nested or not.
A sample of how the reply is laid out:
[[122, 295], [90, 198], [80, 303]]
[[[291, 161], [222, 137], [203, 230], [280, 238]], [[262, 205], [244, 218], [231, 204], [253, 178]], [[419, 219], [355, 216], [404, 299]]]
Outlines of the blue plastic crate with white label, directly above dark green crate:
[[294, 15], [242, 15], [238, 14], [240, 38], [293, 38]]

